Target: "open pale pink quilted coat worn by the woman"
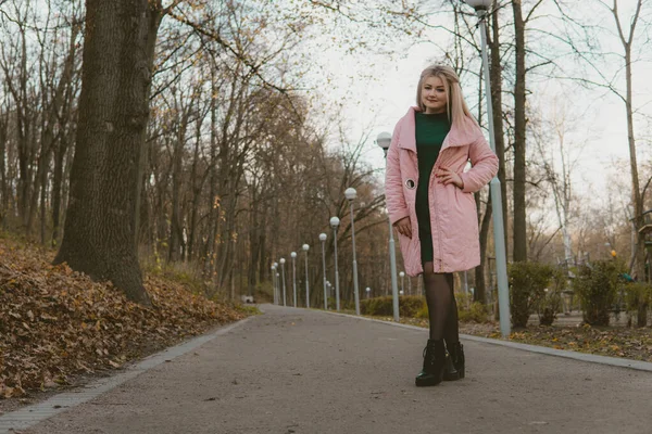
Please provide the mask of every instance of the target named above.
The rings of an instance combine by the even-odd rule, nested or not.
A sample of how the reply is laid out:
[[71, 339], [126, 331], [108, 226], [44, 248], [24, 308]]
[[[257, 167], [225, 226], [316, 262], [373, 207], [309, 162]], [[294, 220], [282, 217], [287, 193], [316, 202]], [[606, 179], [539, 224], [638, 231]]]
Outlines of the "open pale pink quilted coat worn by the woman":
[[[403, 264], [409, 276], [421, 275], [421, 242], [415, 201], [418, 184], [416, 161], [415, 111], [411, 107], [394, 128], [387, 153], [385, 195], [392, 222], [410, 217], [412, 239], [399, 234]], [[464, 173], [471, 159], [472, 168]], [[439, 183], [435, 171], [440, 166], [460, 174], [461, 190]], [[463, 271], [480, 264], [478, 216], [473, 193], [486, 186], [498, 173], [498, 157], [491, 151], [475, 119], [468, 118], [465, 130], [452, 127], [441, 146], [428, 188], [430, 227], [435, 252], [435, 272]]]

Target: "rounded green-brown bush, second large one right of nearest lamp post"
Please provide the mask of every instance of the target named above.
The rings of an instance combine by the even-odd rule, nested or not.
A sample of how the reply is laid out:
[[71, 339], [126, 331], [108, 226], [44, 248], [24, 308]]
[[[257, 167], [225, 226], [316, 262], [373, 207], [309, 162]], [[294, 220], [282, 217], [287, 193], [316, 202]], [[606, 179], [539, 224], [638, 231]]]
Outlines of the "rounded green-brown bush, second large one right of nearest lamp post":
[[609, 314], [614, 304], [619, 275], [625, 266], [616, 260], [595, 260], [578, 268], [573, 289], [579, 297], [584, 321], [590, 326], [609, 326]]

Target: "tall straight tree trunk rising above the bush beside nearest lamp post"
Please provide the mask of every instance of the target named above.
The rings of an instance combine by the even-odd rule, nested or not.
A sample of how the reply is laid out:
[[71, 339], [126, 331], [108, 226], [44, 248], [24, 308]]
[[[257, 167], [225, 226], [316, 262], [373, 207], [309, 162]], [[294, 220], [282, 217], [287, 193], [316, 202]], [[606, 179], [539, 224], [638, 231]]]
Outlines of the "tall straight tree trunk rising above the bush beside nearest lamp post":
[[516, 81], [514, 85], [514, 261], [527, 260], [525, 209], [525, 23], [522, 0], [513, 0]]

